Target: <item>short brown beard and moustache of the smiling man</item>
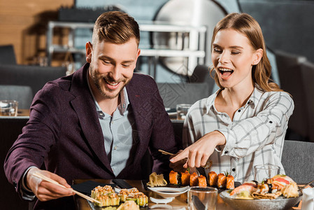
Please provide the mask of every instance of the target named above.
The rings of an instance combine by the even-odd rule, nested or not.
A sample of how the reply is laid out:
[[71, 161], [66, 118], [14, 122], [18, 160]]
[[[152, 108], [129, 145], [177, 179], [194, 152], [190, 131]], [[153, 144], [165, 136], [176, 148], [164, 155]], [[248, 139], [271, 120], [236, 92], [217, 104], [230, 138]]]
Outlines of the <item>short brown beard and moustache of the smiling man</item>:
[[[111, 78], [110, 76], [102, 76], [101, 74], [96, 73], [96, 71], [94, 71], [94, 68], [92, 68], [92, 65], [90, 66], [90, 76], [92, 77], [92, 80], [94, 82], [94, 85], [96, 86], [97, 90], [99, 91], [99, 93], [106, 97], [106, 99], [115, 99], [116, 97], [119, 96], [120, 92], [123, 90], [123, 87], [125, 87], [125, 85], [127, 85], [129, 83], [130, 80], [127, 80], [126, 78], [120, 78], [119, 80], [114, 80], [113, 78]], [[110, 95], [107, 94], [106, 92], [104, 92], [104, 90], [102, 90], [101, 88], [101, 80], [105, 80], [103, 83], [124, 83], [124, 85], [122, 87], [120, 87], [120, 91], [117, 92], [117, 94]], [[111, 89], [106, 89], [105, 90], [108, 92], [114, 92], [115, 90], [111, 90]]]

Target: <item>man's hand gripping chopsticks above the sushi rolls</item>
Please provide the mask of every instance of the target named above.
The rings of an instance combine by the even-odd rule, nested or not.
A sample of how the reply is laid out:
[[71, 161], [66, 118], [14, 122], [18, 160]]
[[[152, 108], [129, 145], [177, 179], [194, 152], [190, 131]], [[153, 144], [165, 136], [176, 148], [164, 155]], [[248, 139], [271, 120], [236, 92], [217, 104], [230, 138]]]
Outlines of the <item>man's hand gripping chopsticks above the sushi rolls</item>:
[[48, 181], [44, 181], [42, 179], [37, 178], [34, 176], [34, 173], [43, 174], [44, 176], [49, 177], [50, 179], [53, 179], [57, 181], [62, 186], [65, 186], [66, 188], [71, 189], [71, 186], [69, 186], [68, 183], [66, 183], [66, 180], [62, 177], [58, 176], [57, 174], [53, 174], [48, 171], [43, 171], [38, 168], [31, 168], [29, 169], [29, 172], [27, 172], [26, 175], [26, 185], [27, 188], [29, 188], [38, 198], [40, 201], [48, 201], [48, 200], [54, 200], [60, 197], [66, 197], [74, 195], [73, 191], [62, 188], [60, 186], [55, 185], [54, 183], [50, 183]]

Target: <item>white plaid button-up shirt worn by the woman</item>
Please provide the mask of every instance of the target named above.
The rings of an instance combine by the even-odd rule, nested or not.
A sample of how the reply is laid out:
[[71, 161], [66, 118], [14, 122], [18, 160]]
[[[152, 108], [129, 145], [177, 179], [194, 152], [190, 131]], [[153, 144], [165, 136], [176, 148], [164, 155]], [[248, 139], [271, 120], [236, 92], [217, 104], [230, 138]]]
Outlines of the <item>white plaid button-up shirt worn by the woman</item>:
[[183, 145], [189, 146], [215, 130], [224, 134], [226, 144], [217, 146], [209, 160], [210, 171], [229, 172], [235, 181], [254, 179], [255, 165], [281, 165], [287, 124], [294, 109], [287, 92], [264, 92], [257, 85], [248, 102], [234, 114], [234, 120], [215, 108], [219, 90], [190, 108], [183, 126]]

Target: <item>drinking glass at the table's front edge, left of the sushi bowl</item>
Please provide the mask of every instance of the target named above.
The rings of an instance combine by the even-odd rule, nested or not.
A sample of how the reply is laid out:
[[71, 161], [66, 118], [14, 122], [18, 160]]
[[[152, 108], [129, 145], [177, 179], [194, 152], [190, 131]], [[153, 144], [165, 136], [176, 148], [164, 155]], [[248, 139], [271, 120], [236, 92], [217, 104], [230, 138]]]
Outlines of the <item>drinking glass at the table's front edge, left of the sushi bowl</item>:
[[192, 187], [187, 193], [187, 203], [190, 210], [215, 210], [217, 204], [217, 188]]

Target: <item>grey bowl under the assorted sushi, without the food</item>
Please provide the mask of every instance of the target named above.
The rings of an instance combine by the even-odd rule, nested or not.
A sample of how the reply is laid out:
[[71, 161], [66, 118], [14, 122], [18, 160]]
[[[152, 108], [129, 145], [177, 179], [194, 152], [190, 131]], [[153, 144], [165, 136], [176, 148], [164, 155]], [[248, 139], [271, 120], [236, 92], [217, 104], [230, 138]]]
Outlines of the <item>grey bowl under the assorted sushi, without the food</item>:
[[229, 190], [224, 190], [220, 193], [220, 197], [224, 202], [229, 204], [234, 209], [250, 209], [250, 210], [279, 210], [290, 209], [295, 204], [300, 202], [302, 195], [299, 197], [285, 198], [282, 195], [276, 199], [255, 199], [255, 200], [243, 200], [230, 197]]

